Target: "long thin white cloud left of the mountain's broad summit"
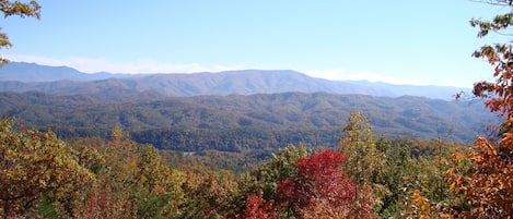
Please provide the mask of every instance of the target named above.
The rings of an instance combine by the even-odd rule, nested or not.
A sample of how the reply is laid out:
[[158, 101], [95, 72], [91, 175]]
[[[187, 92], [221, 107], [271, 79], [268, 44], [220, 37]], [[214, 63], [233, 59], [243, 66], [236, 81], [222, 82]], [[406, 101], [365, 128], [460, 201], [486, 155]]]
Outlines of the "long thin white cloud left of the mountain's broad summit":
[[220, 72], [238, 70], [242, 66], [212, 65], [207, 66], [199, 63], [160, 63], [153, 60], [137, 60], [132, 62], [114, 62], [105, 59], [67, 58], [55, 59], [37, 56], [11, 54], [5, 56], [11, 61], [34, 62], [51, 66], [70, 66], [85, 73], [110, 72], [110, 73], [194, 73], [194, 72]]

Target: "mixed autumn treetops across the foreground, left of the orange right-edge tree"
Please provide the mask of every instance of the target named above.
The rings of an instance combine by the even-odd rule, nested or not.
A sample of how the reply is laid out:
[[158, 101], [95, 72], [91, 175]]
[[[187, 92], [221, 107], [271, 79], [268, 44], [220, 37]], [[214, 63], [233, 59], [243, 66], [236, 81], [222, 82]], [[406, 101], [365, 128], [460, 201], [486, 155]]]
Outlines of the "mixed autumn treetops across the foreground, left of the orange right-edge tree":
[[[355, 113], [340, 149], [289, 145], [234, 174], [187, 162], [186, 155], [160, 155], [119, 127], [107, 141], [62, 142], [51, 131], [22, 131], [3, 120], [0, 209], [48, 218], [377, 217], [417, 214], [404, 203], [416, 205], [409, 196], [425, 188], [423, 195], [450, 206], [448, 185], [440, 182], [460, 145], [377, 138], [366, 125]], [[375, 168], [360, 173], [364, 166]]]

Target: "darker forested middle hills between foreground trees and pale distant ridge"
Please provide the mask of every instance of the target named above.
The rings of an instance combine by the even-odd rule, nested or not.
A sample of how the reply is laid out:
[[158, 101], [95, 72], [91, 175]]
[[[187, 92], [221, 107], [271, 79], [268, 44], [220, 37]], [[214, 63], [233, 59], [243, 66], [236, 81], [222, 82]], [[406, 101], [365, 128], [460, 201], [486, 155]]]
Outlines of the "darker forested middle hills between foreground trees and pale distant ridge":
[[325, 93], [170, 97], [105, 102], [94, 96], [1, 93], [0, 115], [59, 136], [105, 135], [121, 125], [140, 143], [178, 150], [334, 146], [350, 111], [387, 137], [470, 143], [497, 118], [482, 102]]

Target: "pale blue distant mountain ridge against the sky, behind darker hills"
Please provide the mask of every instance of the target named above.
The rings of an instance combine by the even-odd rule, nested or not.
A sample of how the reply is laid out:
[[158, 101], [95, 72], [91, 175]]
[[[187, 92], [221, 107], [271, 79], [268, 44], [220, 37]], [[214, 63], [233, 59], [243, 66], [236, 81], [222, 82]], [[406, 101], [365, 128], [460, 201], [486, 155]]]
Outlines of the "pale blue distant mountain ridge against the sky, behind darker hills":
[[466, 90], [446, 86], [393, 85], [357, 81], [328, 81], [291, 70], [241, 70], [191, 74], [88, 74], [67, 66], [13, 62], [0, 69], [0, 92], [44, 92], [54, 95], [112, 96], [117, 90], [152, 96], [253, 95], [275, 93], [404, 95], [451, 99]]

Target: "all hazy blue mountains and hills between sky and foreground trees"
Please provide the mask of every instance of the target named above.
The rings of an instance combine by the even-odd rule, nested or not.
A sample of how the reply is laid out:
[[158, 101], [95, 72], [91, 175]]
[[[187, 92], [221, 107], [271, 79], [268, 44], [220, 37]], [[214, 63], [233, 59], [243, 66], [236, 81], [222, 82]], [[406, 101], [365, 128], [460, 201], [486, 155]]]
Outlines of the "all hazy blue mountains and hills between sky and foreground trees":
[[457, 87], [335, 82], [289, 71], [194, 74], [82, 73], [10, 63], [0, 69], [0, 115], [60, 137], [105, 136], [184, 151], [335, 146], [350, 111], [377, 134], [470, 143], [498, 118]]

